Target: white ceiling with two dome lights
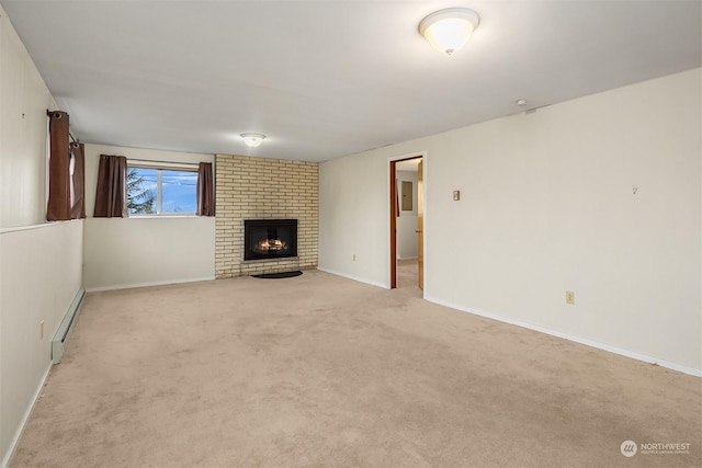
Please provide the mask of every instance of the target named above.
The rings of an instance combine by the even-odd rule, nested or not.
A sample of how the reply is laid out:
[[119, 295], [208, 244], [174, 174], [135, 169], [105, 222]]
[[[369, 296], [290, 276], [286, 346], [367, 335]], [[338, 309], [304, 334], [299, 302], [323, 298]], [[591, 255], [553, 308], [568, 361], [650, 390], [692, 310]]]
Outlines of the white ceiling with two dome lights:
[[[141, 148], [321, 161], [702, 65], [699, 0], [0, 3], [73, 135]], [[449, 7], [453, 56], [417, 32]]]

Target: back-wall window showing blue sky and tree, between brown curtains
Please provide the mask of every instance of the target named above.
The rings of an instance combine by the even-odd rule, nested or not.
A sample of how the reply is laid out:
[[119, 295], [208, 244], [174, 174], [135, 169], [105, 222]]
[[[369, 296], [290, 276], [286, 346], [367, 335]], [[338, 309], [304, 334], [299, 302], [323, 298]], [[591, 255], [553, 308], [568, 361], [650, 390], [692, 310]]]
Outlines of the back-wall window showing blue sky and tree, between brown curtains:
[[194, 215], [197, 210], [197, 167], [156, 167], [127, 162], [129, 215]]

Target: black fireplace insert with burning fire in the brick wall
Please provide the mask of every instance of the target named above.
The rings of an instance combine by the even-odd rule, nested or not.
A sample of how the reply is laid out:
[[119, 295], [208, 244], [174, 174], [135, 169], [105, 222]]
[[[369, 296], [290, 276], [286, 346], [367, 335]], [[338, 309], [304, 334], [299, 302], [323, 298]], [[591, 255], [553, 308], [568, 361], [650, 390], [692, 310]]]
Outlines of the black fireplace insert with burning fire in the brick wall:
[[297, 219], [245, 219], [244, 260], [297, 256]]

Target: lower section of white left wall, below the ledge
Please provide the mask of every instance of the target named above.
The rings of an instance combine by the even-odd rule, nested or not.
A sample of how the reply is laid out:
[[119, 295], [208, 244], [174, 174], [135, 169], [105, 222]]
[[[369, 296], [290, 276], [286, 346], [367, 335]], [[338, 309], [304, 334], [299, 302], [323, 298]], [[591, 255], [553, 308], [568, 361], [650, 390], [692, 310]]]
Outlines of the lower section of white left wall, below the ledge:
[[52, 339], [81, 287], [82, 235], [82, 220], [0, 231], [0, 459], [41, 390]]

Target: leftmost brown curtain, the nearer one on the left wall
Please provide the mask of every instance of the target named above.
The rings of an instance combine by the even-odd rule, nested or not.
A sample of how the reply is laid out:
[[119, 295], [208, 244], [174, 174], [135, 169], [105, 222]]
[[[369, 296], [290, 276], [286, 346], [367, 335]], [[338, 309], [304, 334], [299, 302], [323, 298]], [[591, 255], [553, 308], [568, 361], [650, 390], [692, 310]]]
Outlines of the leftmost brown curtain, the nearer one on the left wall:
[[49, 124], [49, 159], [48, 159], [48, 203], [46, 219], [65, 221], [70, 219], [70, 145], [68, 114], [52, 111]]

